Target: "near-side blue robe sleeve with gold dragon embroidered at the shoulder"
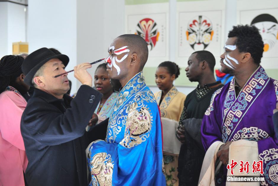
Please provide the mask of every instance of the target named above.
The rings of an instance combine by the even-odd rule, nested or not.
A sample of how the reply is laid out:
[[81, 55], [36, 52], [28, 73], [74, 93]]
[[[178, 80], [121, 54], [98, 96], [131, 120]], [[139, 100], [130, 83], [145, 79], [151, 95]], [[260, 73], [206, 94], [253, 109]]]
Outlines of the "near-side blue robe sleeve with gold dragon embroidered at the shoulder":
[[[143, 122], [138, 122], [140, 118], [139, 120], [136, 119], [138, 118], [137, 114], [127, 116], [127, 125], [130, 125], [131, 130], [126, 128], [125, 138], [117, 147], [118, 167], [114, 169], [117, 179], [113, 180], [115, 185], [126, 183], [128, 183], [127, 185], [156, 185], [154, 180], [159, 180], [162, 175], [159, 110], [155, 106], [149, 107], [148, 110], [137, 107], [136, 110], [139, 116], [142, 115], [146, 120], [143, 119], [141, 120]], [[151, 123], [147, 123], [148, 121]], [[146, 130], [147, 125], [148, 130]], [[136, 128], [137, 131], [132, 131], [132, 128]], [[131, 137], [129, 138], [129, 136]], [[136, 179], [136, 177], [144, 179]]]

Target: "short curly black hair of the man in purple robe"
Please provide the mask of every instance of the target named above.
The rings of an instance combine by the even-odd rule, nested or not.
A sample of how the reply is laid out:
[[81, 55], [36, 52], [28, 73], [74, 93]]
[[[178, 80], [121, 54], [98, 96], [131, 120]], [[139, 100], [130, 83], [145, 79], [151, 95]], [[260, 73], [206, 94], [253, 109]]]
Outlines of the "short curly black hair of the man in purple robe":
[[253, 25], [237, 25], [229, 31], [228, 37], [237, 37], [235, 45], [239, 52], [249, 52], [254, 63], [260, 64], [264, 52], [264, 42], [258, 28]]

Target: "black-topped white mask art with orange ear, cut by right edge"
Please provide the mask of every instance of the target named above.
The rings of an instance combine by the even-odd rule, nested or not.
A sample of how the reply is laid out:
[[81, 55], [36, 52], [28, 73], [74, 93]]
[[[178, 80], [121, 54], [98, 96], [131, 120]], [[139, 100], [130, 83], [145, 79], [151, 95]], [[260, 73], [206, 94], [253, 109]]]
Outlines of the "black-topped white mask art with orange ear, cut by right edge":
[[262, 36], [264, 52], [273, 48], [278, 39], [277, 19], [270, 14], [260, 14], [252, 20], [251, 25], [257, 27]]

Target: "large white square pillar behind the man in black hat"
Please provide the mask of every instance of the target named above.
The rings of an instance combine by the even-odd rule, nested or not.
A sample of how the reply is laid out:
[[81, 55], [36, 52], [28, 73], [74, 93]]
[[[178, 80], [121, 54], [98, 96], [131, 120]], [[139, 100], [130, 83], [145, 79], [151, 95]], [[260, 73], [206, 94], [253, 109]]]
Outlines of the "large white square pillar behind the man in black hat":
[[[29, 0], [28, 5], [29, 53], [56, 48], [70, 57], [66, 70], [108, 56], [106, 48], [124, 33], [124, 11], [115, 11], [124, 9], [124, 0]], [[92, 76], [96, 66], [89, 70]], [[77, 92], [80, 82], [73, 73], [68, 77], [71, 93]]]

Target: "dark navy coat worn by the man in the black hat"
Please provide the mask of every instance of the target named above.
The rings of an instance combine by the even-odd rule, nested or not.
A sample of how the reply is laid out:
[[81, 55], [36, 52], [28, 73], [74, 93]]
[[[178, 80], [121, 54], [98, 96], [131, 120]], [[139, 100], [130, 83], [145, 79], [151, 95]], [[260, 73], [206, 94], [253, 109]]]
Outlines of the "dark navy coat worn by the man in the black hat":
[[[29, 186], [87, 185], [85, 149], [91, 141], [85, 128], [101, 97], [87, 85], [80, 87], [74, 99], [67, 94], [57, 99], [34, 90], [20, 125], [29, 161], [25, 172]], [[88, 135], [90, 140], [92, 135]]]

